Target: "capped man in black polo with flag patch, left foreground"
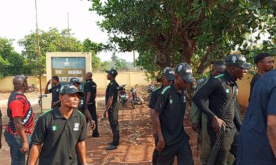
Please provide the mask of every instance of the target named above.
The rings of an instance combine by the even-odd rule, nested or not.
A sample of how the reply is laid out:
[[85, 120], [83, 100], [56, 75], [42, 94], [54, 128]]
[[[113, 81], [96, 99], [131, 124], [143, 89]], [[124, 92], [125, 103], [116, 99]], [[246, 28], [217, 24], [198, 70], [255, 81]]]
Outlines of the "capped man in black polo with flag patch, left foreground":
[[29, 165], [38, 158], [39, 164], [77, 164], [77, 155], [86, 164], [86, 117], [77, 111], [84, 95], [74, 85], [61, 87], [61, 107], [43, 113], [34, 128]]

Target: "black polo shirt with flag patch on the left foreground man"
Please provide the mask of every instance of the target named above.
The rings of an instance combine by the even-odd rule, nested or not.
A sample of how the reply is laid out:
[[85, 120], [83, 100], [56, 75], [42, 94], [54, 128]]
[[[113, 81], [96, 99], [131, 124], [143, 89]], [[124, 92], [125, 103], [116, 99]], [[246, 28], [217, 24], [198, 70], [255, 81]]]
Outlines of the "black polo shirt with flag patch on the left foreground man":
[[34, 144], [43, 144], [39, 164], [76, 164], [76, 144], [86, 140], [86, 117], [77, 109], [66, 120], [56, 107], [43, 113], [32, 133]]

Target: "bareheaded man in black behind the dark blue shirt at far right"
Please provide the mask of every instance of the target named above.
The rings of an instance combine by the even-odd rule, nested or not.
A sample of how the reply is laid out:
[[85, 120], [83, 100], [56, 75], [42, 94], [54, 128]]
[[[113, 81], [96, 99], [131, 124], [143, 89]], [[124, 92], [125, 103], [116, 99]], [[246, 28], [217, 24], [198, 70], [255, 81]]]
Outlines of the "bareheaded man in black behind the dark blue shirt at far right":
[[266, 72], [273, 69], [273, 58], [268, 53], [261, 53], [255, 56], [254, 63], [258, 67], [258, 72], [253, 76], [250, 82], [250, 95], [249, 100], [251, 98], [251, 92], [256, 81], [261, 78]]

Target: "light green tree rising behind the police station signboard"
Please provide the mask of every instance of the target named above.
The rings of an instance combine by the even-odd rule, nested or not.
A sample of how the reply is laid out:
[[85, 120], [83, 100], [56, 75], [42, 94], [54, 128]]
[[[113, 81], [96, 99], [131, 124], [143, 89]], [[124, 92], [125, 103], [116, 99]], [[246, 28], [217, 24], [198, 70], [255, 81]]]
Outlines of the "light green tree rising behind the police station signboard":
[[[23, 46], [22, 55], [26, 58], [25, 64], [28, 74], [39, 74], [37, 55], [37, 34], [31, 32], [19, 40]], [[82, 52], [83, 44], [72, 36], [70, 30], [50, 28], [47, 32], [39, 31], [39, 50], [41, 54], [41, 70], [46, 73], [46, 52]]]

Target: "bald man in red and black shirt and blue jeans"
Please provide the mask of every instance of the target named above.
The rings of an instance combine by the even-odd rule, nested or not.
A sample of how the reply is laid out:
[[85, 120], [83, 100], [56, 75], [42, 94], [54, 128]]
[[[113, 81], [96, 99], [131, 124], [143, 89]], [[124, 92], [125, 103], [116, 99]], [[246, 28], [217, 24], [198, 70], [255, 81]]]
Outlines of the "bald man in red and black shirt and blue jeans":
[[25, 76], [13, 78], [14, 91], [8, 99], [8, 117], [10, 122], [4, 133], [6, 142], [10, 146], [12, 164], [25, 164], [25, 155], [30, 148], [30, 135], [34, 125], [33, 111], [30, 102], [24, 95], [28, 89]]

